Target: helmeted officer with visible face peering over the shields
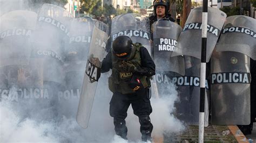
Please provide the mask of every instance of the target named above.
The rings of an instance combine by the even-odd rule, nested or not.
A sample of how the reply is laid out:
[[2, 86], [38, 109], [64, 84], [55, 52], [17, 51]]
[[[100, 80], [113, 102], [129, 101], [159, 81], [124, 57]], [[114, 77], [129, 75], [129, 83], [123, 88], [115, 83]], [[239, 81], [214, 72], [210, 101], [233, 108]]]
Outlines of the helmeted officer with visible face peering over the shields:
[[169, 19], [171, 22], [175, 22], [175, 20], [169, 14], [169, 4], [167, 0], [157, 0], [154, 1], [154, 15], [150, 16], [150, 32], [152, 33], [152, 24], [156, 22], [158, 19]]

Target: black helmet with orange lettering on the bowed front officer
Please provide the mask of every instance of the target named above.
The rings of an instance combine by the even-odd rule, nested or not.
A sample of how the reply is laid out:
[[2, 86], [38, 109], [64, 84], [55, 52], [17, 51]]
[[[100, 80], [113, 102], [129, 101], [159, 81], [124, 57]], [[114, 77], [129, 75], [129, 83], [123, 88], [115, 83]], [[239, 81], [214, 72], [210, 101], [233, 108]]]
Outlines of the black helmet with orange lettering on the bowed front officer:
[[132, 50], [132, 40], [126, 35], [120, 35], [113, 41], [112, 52], [119, 59], [127, 58]]

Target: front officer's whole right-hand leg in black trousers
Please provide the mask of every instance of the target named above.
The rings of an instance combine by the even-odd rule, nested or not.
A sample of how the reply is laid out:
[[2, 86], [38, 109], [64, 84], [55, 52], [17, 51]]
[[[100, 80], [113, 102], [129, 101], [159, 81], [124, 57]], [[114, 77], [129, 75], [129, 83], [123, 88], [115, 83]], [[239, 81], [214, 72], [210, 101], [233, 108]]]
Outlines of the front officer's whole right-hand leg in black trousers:
[[152, 107], [150, 104], [149, 89], [146, 89], [141, 94], [139, 93], [136, 98], [132, 101], [132, 109], [134, 115], [139, 117], [140, 132], [142, 133], [142, 141], [151, 141], [151, 133], [153, 125], [150, 120], [150, 113]]

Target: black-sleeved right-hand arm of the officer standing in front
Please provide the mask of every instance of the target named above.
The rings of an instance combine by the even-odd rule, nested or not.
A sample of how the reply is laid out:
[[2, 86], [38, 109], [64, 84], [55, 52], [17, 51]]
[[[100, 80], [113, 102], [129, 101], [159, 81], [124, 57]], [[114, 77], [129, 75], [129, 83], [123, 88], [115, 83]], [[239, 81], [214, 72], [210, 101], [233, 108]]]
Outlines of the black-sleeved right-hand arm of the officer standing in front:
[[140, 47], [140, 57], [142, 58], [142, 68], [137, 69], [135, 73], [145, 76], [155, 75], [156, 65], [145, 47]]

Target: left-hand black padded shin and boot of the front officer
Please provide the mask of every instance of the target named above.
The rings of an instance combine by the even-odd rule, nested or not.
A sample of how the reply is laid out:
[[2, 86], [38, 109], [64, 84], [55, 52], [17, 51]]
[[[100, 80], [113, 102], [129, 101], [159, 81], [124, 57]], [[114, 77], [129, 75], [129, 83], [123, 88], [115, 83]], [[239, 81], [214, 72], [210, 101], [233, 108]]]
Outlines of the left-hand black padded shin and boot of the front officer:
[[124, 119], [114, 118], [114, 131], [121, 138], [127, 140], [127, 127]]

